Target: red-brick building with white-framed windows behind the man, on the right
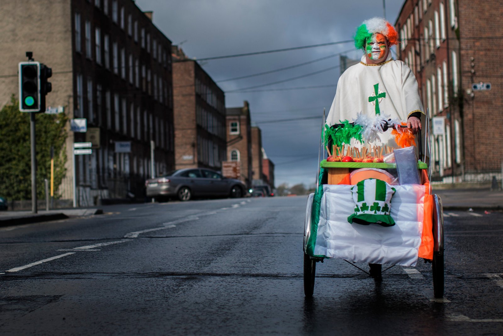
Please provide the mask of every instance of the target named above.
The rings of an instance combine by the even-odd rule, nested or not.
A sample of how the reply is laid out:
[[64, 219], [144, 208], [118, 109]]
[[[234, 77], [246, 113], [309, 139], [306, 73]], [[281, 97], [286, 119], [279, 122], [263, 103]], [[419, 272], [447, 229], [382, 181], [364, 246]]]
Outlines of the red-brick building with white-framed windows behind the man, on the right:
[[[440, 126], [431, 135], [438, 180], [484, 181], [501, 171], [503, 131], [489, 126], [503, 108], [494, 43], [503, 35], [501, 15], [498, 0], [406, 0], [396, 21], [399, 59], [417, 78], [432, 126]], [[479, 82], [491, 90], [473, 91]]]

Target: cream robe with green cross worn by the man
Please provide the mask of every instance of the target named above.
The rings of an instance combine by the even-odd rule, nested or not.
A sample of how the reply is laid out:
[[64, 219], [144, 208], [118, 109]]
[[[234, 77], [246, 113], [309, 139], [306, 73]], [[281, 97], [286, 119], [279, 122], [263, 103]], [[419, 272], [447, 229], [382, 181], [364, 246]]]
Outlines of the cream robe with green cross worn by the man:
[[[417, 81], [412, 70], [405, 63], [395, 61], [389, 55], [383, 63], [366, 64], [366, 57], [363, 55], [360, 63], [349, 67], [339, 78], [336, 96], [333, 98], [326, 124], [331, 126], [343, 120], [352, 122], [359, 112], [374, 117], [376, 102], [373, 97], [376, 96], [376, 84], [378, 84], [377, 95], [380, 97], [385, 93], [385, 97], [379, 98], [378, 102], [381, 115], [389, 115], [392, 119], [406, 121], [413, 112], [424, 114], [417, 90]], [[425, 117], [421, 119], [424, 123]], [[391, 130], [380, 134], [380, 137], [380, 144], [397, 146]], [[380, 144], [375, 143], [375, 145]]]

